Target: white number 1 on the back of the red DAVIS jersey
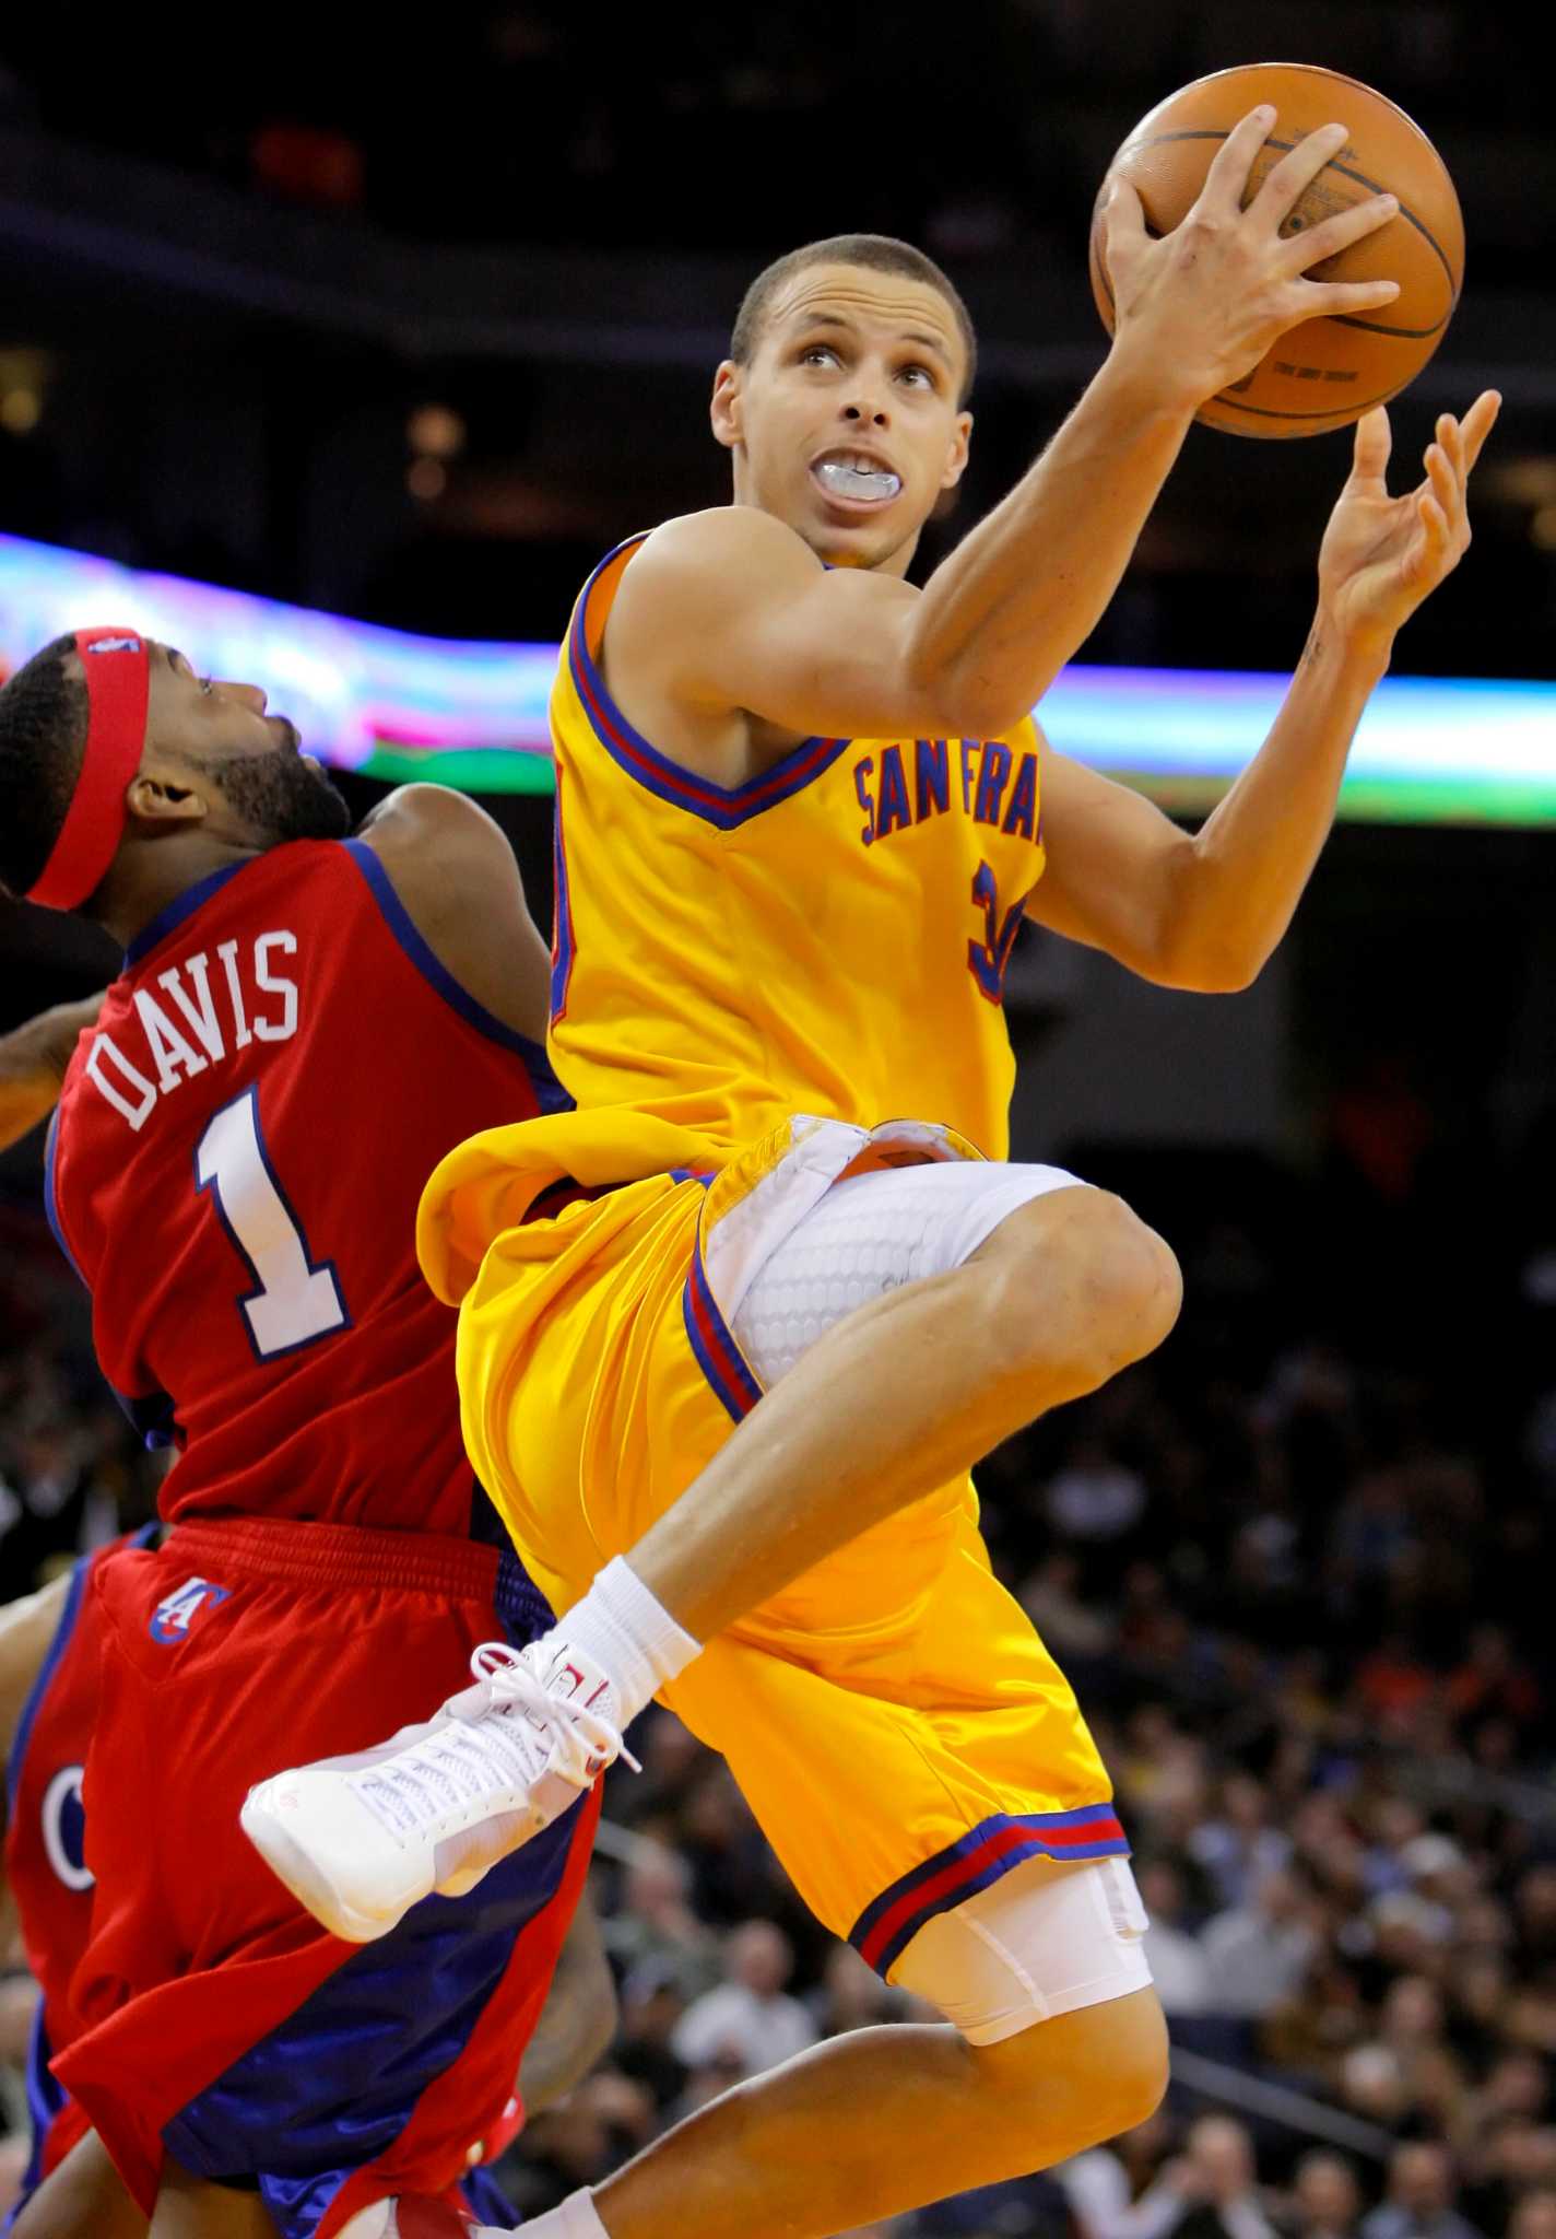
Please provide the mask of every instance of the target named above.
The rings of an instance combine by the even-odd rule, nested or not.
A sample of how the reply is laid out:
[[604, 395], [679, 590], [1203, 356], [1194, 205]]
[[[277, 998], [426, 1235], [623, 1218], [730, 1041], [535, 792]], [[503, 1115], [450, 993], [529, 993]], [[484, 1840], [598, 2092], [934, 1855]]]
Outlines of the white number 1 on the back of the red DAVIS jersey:
[[222, 1227], [253, 1276], [255, 1287], [237, 1303], [262, 1361], [347, 1328], [336, 1270], [309, 1258], [298, 1216], [264, 1155], [257, 1088], [213, 1115], [195, 1151], [195, 1187], [215, 1198]]

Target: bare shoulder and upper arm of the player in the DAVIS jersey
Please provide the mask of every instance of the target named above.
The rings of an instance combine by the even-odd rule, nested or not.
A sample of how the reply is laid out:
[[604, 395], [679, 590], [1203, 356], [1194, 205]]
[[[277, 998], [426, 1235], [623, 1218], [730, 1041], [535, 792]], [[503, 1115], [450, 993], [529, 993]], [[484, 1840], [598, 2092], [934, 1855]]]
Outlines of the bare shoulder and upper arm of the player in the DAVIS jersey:
[[401, 786], [378, 802], [358, 840], [459, 985], [504, 1025], [544, 1041], [551, 954], [502, 826], [448, 786]]

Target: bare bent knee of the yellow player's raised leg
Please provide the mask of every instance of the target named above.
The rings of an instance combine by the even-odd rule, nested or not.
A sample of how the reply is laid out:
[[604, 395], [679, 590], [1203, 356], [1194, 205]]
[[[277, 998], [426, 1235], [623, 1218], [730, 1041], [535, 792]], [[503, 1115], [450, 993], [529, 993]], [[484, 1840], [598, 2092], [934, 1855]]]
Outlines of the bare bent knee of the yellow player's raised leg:
[[1171, 1247], [1106, 1189], [1039, 1198], [1001, 1261], [1001, 1314], [1012, 1341], [1050, 1366], [1054, 1346], [1079, 1377], [1106, 1381], [1153, 1352], [1178, 1321], [1182, 1274]]

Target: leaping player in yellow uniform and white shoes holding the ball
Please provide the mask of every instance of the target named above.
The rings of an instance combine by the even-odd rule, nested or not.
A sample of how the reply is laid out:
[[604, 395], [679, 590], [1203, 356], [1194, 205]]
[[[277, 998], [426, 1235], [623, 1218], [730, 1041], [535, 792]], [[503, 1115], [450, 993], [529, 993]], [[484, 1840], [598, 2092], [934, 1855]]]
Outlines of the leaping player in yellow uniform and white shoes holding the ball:
[[1115, 199], [1108, 363], [922, 593], [972, 329], [929, 260], [842, 237], [746, 298], [712, 403], [734, 506], [634, 540], [573, 616], [551, 1048], [578, 1111], [463, 1144], [421, 1211], [470, 1455], [566, 1614], [430, 1726], [266, 1782], [246, 1825], [374, 1934], [544, 1823], [658, 1688], [819, 1919], [949, 2026], [741, 2087], [537, 2239], [824, 2239], [1162, 2091], [1106, 1773], [965, 1471], [1151, 1350], [1178, 1274], [1119, 1200], [1003, 1164], [1001, 974], [1021, 911], [1164, 985], [1258, 972], [1393, 636], [1464, 549], [1496, 416], [1444, 416], [1404, 499], [1384, 414], [1361, 423], [1301, 669], [1198, 837], [1043, 743], [1028, 710], [1196, 405], [1303, 318], [1388, 300], [1303, 271], [1390, 204], [1281, 240], [1332, 134], [1243, 210], [1267, 130], [1164, 242]]

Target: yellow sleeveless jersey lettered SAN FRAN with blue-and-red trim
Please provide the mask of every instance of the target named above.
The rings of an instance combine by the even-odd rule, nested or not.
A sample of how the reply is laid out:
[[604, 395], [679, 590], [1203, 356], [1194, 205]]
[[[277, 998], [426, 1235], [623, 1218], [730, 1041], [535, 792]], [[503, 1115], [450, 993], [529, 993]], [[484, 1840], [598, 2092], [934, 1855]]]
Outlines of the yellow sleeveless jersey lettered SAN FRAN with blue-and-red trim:
[[551, 696], [562, 1084], [723, 1155], [806, 1111], [936, 1120], [1003, 1158], [1001, 987], [1043, 871], [1032, 723], [806, 739], [743, 786], [696, 777], [598, 665], [640, 542], [584, 584]]

